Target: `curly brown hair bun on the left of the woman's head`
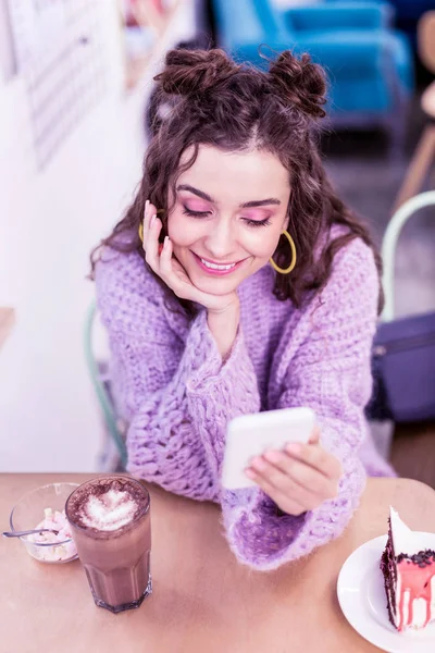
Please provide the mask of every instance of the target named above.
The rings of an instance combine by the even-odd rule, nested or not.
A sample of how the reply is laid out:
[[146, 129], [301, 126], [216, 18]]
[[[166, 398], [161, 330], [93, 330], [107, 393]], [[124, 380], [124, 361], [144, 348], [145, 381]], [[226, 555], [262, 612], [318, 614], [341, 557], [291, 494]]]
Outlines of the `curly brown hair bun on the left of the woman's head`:
[[167, 52], [164, 70], [154, 79], [166, 94], [191, 96], [216, 88], [238, 67], [223, 50], [174, 49]]

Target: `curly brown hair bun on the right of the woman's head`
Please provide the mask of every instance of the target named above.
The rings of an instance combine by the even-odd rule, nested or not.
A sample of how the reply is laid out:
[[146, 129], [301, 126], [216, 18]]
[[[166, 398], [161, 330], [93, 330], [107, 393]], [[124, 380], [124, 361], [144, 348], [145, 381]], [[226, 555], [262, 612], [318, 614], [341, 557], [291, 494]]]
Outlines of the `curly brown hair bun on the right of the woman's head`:
[[326, 102], [326, 79], [322, 66], [312, 63], [309, 54], [300, 59], [289, 50], [282, 52], [271, 64], [272, 83], [286, 103], [314, 119], [324, 118], [322, 104]]

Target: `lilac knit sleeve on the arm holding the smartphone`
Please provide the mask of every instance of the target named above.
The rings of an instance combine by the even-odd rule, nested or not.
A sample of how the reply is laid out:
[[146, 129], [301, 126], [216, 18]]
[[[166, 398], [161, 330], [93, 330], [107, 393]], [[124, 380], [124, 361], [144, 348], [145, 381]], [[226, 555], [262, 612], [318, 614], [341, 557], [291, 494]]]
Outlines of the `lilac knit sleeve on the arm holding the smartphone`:
[[[337, 538], [357, 508], [365, 484], [358, 449], [365, 435], [363, 409], [372, 385], [370, 349], [377, 297], [372, 252], [352, 241], [336, 255], [321, 296], [313, 298], [297, 325], [289, 324], [291, 340], [299, 345], [278, 352], [276, 407], [313, 408], [321, 443], [340, 459], [344, 473], [335, 498], [300, 516], [281, 513], [259, 489], [224, 493], [224, 523], [241, 563], [266, 570], [307, 555]], [[283, 335], [288, 343], [289, 333]]]

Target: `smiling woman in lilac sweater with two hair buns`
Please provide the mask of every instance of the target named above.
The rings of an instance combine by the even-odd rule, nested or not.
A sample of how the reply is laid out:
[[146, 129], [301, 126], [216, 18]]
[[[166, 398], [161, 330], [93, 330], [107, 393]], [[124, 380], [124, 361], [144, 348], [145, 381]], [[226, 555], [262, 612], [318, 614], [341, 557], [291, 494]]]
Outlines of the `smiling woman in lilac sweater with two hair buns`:
[[[272, 569], [339, 535], [366, 475], [394, 476], [363, 417], [380, 260], [322, 168], [308, 56], [262, 72], [173, 50], [157, 82], [141, 185], [95, 270], [128, 470], [220, 502], [237, 558]], [[228, 420], [293, 406], [316, 412], [309, 444], [223, 490]]]

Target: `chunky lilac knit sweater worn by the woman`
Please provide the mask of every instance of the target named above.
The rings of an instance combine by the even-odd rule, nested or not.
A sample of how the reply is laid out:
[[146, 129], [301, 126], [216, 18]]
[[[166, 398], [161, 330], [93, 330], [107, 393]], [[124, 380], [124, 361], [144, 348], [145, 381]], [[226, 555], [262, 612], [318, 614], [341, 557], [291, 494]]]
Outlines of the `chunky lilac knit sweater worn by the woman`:
[[[303, 310], [272, 294], [266, 266], [238, 289], [240, 325], [223, 364], [200, 309], [189, 322], [167, 301], [138, 254], [105, 250], [96, 271], [109, 332], [114, 395], [127, 420], [128, 471], [171, 492], [222, 505], [237, 558], [273, 569], [338, 537], [365, 477], [395, 476], [363, 416], [378, 280], [371, 250], [352, 241], [322, 294]], [[220, 483], [226, 424], [237, 415], [310, 406], [321, 442], [343, 463], [338, 496], [298, 517], [258, 488]]]

